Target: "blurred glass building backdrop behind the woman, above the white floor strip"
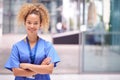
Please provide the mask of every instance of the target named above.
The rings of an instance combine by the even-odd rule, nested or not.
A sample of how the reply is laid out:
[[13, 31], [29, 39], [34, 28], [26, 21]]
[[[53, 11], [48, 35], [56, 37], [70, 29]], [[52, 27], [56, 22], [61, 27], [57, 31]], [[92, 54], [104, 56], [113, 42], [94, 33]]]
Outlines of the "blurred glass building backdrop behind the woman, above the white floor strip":
[[120, 73], [120, 0], [0, 0], [0, 74], [11, 74], [4, 64], [12, 45], [26, 36], [16, 22], [24, 3], [49, 10], [49, 30], [39, 35], [61, 58], [53, 74]]

